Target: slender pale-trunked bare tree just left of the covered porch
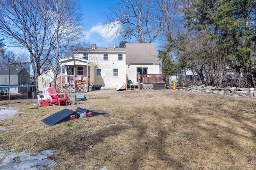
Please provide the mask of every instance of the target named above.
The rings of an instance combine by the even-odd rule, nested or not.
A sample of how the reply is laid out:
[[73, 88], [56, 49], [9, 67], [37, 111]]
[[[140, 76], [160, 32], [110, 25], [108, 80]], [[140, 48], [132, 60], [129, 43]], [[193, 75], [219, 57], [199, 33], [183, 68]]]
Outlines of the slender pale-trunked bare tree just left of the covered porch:
[[[56, 78], [60, 72], [59, 59], [64, 51], [81, 37], [81, 14], [78, 9], [78, 0], [51, 0], [52, 7], [52, 27], [55, 34], [55, 44], [53, 49], [54, 62], [54, 87]], [[55, 64], [54, 64], [55, 63]]]

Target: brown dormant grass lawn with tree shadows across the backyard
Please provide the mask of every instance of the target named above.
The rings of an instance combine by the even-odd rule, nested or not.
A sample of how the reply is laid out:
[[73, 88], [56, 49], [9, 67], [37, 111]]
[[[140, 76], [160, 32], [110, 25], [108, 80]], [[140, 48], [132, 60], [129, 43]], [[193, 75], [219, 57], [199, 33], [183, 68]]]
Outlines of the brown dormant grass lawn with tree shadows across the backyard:
[[[0, 106], [19, 111], [0, 121], [0, 127], [14, 125], [0, 131], [0, 150], [56, 149], [56, 170], [256, 169], [255, 98], [174, 90], [98, 90], [86, 97], [82, 104], [60, 107], [1, 100]], [[108, 114], [54, 126], [41, 121], [77, 107]]]

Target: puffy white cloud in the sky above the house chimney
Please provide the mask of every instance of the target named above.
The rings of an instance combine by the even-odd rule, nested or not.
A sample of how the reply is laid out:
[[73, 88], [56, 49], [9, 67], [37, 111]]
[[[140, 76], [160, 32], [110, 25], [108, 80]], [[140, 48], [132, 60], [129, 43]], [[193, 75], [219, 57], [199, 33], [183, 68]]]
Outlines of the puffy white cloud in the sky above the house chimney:
[[97, 25], [94, 25], [90, 31], [84, 31], [85, 39], [89, 40], [93, 33], [97, 33], [108, 42], [114, 41], [114, 39], [120, 34], [120, 27], [120, 23], [108, 23], [106, 25], [98, 23]]

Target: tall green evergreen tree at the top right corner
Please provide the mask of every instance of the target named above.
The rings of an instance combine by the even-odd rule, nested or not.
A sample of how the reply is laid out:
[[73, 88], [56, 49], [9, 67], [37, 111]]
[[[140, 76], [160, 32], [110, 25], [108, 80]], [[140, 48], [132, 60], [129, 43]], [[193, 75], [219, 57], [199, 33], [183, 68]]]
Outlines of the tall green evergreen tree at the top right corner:
[[256, 12], [254, 0], [198, 0], [186, 8], [191, 30], [207, 31], [224, 50], [228, 64], [250, 80], [254, 72]]

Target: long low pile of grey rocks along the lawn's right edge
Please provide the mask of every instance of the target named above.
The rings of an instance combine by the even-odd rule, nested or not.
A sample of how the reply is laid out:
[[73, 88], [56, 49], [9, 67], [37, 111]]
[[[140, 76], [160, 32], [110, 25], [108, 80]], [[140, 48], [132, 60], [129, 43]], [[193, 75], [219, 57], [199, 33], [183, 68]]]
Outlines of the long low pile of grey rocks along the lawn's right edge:
[[205, 93], [214, 93], [214, 94], [226, 94], [231, 96], [253, 96], [256, 97], [255, 92], [256, 88], [239, 88], [239, 87], [230, 87], [220, 88], [216, 86], [189, 86], [183, 87], [181, 91], [190, 91], [190, 92], [205, 92]]

